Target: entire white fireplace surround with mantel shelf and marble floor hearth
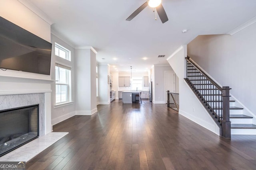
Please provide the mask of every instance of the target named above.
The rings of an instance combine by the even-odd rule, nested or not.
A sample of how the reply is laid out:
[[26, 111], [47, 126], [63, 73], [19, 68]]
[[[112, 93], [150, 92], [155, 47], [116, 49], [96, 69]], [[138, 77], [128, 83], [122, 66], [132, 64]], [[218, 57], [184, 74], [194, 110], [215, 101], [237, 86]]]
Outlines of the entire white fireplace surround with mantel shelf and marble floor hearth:
[[67, 133], [51, 132], [50, 79], [0, 75], [0, 110], [39, 104], [39, 138], [1, 156], [0, 161], [28, 161]]

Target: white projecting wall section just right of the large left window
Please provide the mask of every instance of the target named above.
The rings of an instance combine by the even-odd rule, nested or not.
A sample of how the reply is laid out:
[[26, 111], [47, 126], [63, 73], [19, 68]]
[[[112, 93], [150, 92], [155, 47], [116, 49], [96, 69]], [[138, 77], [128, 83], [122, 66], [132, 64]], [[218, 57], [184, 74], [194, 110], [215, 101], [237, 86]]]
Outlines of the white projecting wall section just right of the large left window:
[[76, 114], [97, 112], [96, 55], [91, 49], [75, 49]]

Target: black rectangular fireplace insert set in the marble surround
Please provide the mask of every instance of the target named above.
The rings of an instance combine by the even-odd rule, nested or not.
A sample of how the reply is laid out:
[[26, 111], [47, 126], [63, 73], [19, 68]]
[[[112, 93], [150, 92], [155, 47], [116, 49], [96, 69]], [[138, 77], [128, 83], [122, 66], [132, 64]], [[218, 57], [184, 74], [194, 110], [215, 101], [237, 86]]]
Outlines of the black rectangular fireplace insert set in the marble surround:
[[0, 111], [0, 156], [39, 136], [39, 104]]

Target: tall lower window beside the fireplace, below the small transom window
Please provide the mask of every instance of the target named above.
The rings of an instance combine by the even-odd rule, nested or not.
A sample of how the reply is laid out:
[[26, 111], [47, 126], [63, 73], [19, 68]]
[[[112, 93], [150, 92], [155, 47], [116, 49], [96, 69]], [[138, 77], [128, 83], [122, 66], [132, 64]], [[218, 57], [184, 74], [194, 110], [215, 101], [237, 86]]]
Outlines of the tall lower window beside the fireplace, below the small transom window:
[[56, 104], [71, 101], [71, 68], [56, 64]]

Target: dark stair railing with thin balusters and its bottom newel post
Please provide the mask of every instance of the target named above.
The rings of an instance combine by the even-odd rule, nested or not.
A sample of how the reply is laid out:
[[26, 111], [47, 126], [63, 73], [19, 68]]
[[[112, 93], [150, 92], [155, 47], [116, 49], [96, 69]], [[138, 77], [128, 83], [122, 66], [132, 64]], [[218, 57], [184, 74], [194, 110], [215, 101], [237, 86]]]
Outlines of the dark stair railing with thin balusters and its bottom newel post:
[[199, 66], [186, 57], [186, 82], [196, 94], [208, 113], [220, 127], [220, 136], [231, 138], [228, 86], [221, 87]]

